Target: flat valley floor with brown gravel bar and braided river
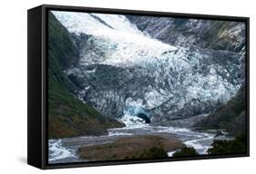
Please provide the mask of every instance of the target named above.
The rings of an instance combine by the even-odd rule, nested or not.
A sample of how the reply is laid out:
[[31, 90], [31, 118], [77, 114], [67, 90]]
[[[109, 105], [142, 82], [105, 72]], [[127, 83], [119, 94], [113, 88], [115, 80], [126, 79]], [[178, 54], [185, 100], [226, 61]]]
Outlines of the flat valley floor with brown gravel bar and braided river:
[[48, 158], [49, 163], [136, 159], [132, 154], [154, 147], [163, 148], [171, 158], [174, 151], [185, 145], [193, 147], [199, 154], [207, 154], [214, 136], [214, 132], [144, 124], [110, 129], [104, 136], [49, 140]]

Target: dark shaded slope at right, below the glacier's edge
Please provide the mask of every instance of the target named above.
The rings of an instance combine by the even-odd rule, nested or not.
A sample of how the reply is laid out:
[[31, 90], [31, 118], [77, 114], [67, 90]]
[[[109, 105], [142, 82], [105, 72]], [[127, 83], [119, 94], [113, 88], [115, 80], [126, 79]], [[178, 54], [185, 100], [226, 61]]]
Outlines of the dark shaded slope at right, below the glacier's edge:
[[194, 127], [202, 130], [223, 129], [234, 136], [238, 136], [246, 131], [245, 117], [245, 87], [234, 96], [230, 102], [220, 106], [208, 117], [195, 124]]

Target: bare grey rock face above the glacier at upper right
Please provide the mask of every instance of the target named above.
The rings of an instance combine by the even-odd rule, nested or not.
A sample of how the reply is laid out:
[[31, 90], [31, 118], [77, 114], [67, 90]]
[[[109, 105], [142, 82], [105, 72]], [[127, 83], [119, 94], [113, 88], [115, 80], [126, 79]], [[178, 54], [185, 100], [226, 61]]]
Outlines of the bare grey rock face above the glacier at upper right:
[[140, 31], [164, 43], [183, 47], [241, 52], [245, 24], [239, 22], [128, 15]]

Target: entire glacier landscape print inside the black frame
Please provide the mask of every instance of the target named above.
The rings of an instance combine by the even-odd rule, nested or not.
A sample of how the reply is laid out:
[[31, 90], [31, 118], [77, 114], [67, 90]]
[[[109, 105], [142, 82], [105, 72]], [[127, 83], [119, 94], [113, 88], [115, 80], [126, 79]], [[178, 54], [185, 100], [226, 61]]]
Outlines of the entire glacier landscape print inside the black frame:
[[48, 163], [244, 154], [245, 30], [49, 10]]

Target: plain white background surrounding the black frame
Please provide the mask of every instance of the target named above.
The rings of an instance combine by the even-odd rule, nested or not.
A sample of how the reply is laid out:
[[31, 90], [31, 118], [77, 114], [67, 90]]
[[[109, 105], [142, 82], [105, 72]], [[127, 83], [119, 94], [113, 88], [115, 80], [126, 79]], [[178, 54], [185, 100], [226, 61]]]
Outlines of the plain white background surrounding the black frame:
[[[253, 0], [3, 0], [0, 8], [0, 173], [245, 173], [255, 169], [256, 75]], [[41, 4], [82, 5], [251, 17], [251, 157], [81, 169], [39, 170], [26, 165], [26, 9]], [[254, 67], [253, 67], [254, 66]], [[253, 166], [254, 165], [254, 166]], [[255, 171], [254, 171], [255, 172]], [[251, 172], [250, 172], [251, 173]]]

